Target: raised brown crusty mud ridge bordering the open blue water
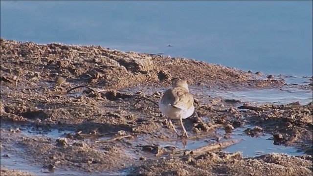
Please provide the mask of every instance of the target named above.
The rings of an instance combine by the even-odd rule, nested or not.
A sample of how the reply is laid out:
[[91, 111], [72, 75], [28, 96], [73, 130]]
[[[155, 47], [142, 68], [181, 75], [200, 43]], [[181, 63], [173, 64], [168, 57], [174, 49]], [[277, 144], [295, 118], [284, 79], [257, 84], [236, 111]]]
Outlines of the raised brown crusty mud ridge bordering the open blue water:
[[280, 80], [258, 80], [238, 69], [183, 58], [122, 52], [102, 46], [21, 43], [1, 39], [1, 82], [18, 87], [37, 86], [63, 76], [70, 84], [95, 88], [126, 88], [136, 85], [168, 86], [181, 77], [189, 84], [211, 87], [273, 87]]

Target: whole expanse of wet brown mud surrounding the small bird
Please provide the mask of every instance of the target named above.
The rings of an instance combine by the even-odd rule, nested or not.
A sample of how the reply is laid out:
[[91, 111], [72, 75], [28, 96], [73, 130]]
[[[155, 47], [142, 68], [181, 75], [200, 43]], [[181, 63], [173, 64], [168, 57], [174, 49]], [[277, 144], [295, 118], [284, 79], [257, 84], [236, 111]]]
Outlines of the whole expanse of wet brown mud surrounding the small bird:
[[[312, 78], [289, 83], [283, 75], [102, 46], [1, 39], [0, 50], [1, 176], [27, 175], [27, 171], [32, 175], [312, 175]], [[156, 105], [177, 77], [188, 81], [195, 97], [198, 116], [184, 120], [188, 139], [177, 138]], [[265, 96], [282, 91], [286, 97], [254, 101], [251, 92], [242, 96], [259, 90]], [[225, 96], [239, 91], [240, 96]], [[247, 146], [236, 137], [238, 131], [246, 140], [268, 140], [272, 146], [294, 149], [295, 154], [266, 149], [256, 154], [262, 147]], [[246, 150], [232, 148], [240, 145], [253, 152], [247, 156]], [[13, 167], [10, 158], [34, 167], [22, 169], [24, 162]]]

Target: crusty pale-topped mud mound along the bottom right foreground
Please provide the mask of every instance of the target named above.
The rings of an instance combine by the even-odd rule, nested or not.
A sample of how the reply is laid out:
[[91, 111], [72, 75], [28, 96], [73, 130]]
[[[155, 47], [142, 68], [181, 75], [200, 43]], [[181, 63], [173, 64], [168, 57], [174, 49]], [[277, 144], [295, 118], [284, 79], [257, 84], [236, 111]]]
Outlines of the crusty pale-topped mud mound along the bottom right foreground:
[[244, 158], [240, 153], [206, 153], [147, 160], [131, 176], [309, 176], [312, 156], [266, 154]]

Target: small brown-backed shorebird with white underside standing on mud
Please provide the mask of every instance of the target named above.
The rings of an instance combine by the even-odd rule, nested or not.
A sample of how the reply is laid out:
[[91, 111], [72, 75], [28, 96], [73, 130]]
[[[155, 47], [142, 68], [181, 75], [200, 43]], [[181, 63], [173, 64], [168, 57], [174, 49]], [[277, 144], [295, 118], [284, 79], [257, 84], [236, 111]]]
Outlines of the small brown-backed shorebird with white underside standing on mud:
[[[158, 102], [158, 106], [161, 112], [170, 119], [170, 125], [174, 128], [178, 137], [185, 136], [188, 138], [188, 134], [182, 123], [182, 119], [190, 117], [194, 111], [194, 98], [189, 93], [187, 81], [174, 80], [173, 88], [170, 88], [164, 92], [164, 95]], [[183, 133], [179, 135], [176, 131], [171, 119], [179, 119]]]

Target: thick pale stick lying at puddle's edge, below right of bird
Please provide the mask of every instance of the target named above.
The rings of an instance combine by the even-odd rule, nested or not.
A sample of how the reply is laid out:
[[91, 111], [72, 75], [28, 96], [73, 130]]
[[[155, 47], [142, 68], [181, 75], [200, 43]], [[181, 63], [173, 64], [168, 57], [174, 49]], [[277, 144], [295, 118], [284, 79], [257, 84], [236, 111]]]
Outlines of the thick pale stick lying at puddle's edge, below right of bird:
[[216, 144], [203, 146], [203, 147], [200, 147], [200, 148], [195, 149], [195, 150], [186, 151], [186, 152], [184, 152], [184, 155], [187, 155], [187, 154], [201, 154], [201, 153], [205, 153], [205, 152], [213, 151], [213, 150], [217, 150], [217, 149], [224, 149], [224, 148], [226, 148], [228, 146], [237, 144], [239, 141], [240, 140], [231, 140], [231, 141], [225, 141], [225, 142], [220, 142], [220, 143], [216, 143]]

